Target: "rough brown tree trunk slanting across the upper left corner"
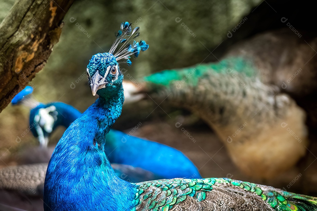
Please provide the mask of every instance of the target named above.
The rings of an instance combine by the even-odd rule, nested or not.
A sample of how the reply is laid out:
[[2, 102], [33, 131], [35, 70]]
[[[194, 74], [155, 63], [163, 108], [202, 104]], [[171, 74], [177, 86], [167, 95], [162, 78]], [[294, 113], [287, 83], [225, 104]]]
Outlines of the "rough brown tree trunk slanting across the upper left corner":
[[46, 64], [74, 0], [17, 0], [0, 25], [0, 112]]

